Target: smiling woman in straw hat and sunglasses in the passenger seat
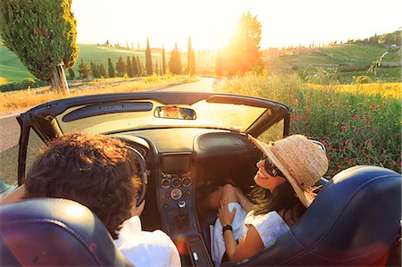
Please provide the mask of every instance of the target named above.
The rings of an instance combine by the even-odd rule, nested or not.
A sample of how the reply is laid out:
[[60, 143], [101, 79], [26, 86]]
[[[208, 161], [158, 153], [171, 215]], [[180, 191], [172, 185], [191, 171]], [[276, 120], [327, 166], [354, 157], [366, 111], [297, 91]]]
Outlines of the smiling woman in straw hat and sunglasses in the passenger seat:
[[[249, 138], [266, 156], [256, 164], [255, 204], [231, 184], [205, 201], [207, 206], [219, 208], [211, 233], [216, 266], [248, 258], [289, 231], [314, 201], [312, 187], [328, 169], [325, 153], [304, 136], [269, 145]], [[227, 258], [222, 260], [224, 254]]]

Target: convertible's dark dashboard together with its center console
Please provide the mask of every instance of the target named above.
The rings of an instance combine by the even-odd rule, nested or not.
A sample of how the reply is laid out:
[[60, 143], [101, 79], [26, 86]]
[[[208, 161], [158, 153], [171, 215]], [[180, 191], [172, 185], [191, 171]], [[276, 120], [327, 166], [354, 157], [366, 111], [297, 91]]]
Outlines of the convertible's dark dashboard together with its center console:
[[113, 136], [137, 149], [147, 163], [143, 228], [163, 229], [178, 246], [183, 265], [212, 266], [205, 234], [211, 218], [205, 218], [202, 201], [228, 178], [247, 191], [259, 150], [246, 135], [229, 130], [143, 129]]

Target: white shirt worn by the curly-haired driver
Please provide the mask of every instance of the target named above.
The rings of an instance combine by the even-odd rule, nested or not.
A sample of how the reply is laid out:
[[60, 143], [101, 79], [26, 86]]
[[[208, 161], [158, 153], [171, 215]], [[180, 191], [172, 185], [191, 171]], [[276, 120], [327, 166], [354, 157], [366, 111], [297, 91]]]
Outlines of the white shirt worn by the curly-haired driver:
[[135, 266], [181, 266], [180, 255], [172, 239], [162, 230], [143, 231], [138, 216], [123, 222], [114, 244]]

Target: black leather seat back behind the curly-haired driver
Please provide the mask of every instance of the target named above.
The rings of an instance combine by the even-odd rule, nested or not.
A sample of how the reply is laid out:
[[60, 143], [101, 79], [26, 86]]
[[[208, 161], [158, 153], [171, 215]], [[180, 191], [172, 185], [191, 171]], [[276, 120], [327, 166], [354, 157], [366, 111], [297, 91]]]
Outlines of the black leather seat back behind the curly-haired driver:
[[57, 198], [0, 206], [0, 265], [132, 266], [87, 207]]

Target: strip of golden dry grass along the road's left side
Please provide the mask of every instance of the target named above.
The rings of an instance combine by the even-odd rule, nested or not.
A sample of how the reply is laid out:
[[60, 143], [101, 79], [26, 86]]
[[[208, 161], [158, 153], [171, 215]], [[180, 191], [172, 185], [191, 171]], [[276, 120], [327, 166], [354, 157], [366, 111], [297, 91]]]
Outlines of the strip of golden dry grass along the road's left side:
[[[70, 96], [88, 96], [106, 93], [120, 93], [163, 88], [181, 83], [197, 81], [197, 78], [166, 74], [140, 78], [111, 78], [74, 80], [70, 88]], [[32, 106], [65, 98], [50, 90], [50, 87], [25, 89], [0, 93], [0, 112], [21, 111]]]

